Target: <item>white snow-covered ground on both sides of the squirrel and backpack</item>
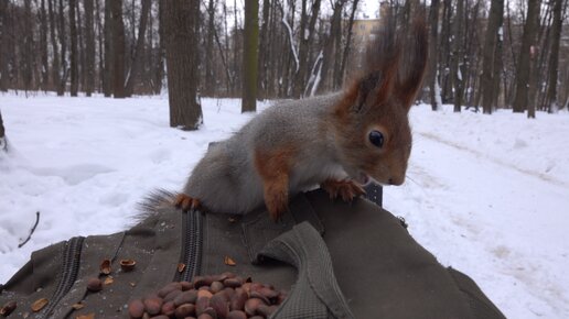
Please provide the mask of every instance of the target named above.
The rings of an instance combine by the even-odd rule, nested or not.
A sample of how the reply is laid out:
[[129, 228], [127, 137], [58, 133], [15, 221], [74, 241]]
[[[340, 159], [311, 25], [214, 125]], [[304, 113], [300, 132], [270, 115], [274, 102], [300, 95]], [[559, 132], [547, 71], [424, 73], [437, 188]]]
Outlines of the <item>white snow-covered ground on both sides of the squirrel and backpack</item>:
[[[0, 155], [0, 283], [34, 250], [125, 229], [143, 195], [180, 189], [207, 143], [251, 117], [238, 100], [203, 108], [205, 127], [182, 132], [168, 125], [165, 97], [0, 96], [11, 146]], [[569, 113], [418, 106], [410, 119], [408, 179], [385, 189], [385, 207], [508, 318], [569, 318]]]

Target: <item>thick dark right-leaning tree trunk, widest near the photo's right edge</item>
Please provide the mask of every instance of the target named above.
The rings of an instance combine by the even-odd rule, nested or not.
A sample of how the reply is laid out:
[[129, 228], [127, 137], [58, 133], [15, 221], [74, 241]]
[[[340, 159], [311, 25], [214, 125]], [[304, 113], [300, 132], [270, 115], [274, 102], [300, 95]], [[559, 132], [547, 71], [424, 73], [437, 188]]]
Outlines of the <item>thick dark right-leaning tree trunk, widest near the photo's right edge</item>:
[[[539, 23], [540, 0], [527, 1], [527, 16], [522, 36], [522, 50], [516, 69], [516, 96], [514, 112], [524, 112], [528, 106], [529, 70], [532, 68], [532, 46], [535, 45], [535, 35]], [[535, 106], [534, 106], [535, 108]]]

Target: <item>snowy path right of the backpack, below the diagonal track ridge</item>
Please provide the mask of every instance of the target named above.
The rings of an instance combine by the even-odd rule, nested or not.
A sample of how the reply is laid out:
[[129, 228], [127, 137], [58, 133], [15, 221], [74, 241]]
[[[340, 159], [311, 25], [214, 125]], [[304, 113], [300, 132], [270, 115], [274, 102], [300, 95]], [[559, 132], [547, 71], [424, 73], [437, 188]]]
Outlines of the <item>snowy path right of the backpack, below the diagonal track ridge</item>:
[[568, 318], [567, 184], [428, 132], [415, 136], [410, 178], [386, 189], [386, 208], [405, 212], [411, 234], [508, 318]]

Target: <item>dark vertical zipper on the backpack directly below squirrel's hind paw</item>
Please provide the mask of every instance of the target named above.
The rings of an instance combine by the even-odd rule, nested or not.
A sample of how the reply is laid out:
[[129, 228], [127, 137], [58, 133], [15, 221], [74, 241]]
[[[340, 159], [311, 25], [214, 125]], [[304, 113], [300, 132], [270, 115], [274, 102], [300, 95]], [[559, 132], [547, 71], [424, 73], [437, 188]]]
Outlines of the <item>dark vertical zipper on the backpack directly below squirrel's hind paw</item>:
[[202, 264], [203, 220], [198, 210], [190, 210], [182, 213], [182, 245], [180, 251], [180, 264], [184, 264], [182, 272], [176, 271], [175, 282], [190, 282], [200, 274]]

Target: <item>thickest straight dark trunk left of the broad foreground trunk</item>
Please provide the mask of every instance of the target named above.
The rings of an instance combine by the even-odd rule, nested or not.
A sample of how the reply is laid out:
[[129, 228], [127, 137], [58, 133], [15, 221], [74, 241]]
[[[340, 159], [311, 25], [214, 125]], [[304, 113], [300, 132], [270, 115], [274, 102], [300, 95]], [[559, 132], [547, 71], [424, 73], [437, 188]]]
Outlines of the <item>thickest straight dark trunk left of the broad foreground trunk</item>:
[[112, 95], [122, 99], [125, 95], [125, 22], [122, 21], [122, 0], [111, 0], [112, 15]]

